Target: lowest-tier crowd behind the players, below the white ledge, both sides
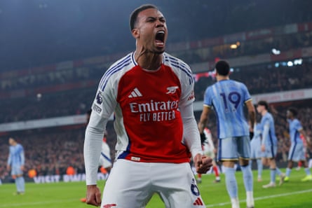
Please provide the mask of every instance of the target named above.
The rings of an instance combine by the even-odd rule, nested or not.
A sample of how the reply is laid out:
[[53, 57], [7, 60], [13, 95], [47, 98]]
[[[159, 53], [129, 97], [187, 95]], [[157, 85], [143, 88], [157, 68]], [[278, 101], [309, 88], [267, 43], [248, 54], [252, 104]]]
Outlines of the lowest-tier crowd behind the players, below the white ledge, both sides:
[[[278, 137], [278, 156], [279, 162], [287, 161], [287, 154], [290, 148], [290, 139], [285, 120], [286, 110], [290, 104], [272, 106], [271, 112], [276, 120], [276, 134]], [[295, 106], [299, 109], [298, 118], [301, 120], [307, 134], [312, 137], [312, 100], [297, 102]], [[196, 118], [200, 116], [196, 112]], [[214, 142], [217, 146], [215, 117], [211, 116], [208, 127], [212, 132]], [[27, 130], [11, 135], [15, 137], [25, 148], [26, 170], [36, 169], [37, 175], [66, 174], [69, 166], [74, 167], [77, 174], [84, 172], [83, 163], [83, 141], [84, 126], [58, 127], [40, 130]], [[116, 134], [114, 133], [113, 123], [107, 126], [107, 143], [111, 147], [111, 158], [114, 160], [114, 146], [116, 144]], [[4, 179], [9, 174], [6, 171], [6, 160], [8, 155], [8, 137], [0, 137], [0, 177]], [[308, 157], [312, 157], [312, 146], [310, 146]]]

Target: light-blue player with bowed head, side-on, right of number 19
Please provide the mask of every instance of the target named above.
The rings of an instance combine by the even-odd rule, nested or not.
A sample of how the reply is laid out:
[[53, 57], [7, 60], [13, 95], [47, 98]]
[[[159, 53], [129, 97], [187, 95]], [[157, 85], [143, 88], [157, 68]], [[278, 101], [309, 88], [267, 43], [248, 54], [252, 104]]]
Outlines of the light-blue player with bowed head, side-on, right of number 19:
[[261, 130], [262, 130], [262, 164], [269, 166], [271, 171], [270, 183], [262, 186], [263, 188], [276, 187], [276, 175], [280, 176], [280, 185], [282, 185], [285, 174], [280, 172], [280, 169], [276, 166], [276, 154], [278, 149], [278, 139], [275, 134], [274, 119], [271, 113], [269, 113], [269, 104], [260, 100], [257, 104], [257, 111], [262, 115], [261, 118]]

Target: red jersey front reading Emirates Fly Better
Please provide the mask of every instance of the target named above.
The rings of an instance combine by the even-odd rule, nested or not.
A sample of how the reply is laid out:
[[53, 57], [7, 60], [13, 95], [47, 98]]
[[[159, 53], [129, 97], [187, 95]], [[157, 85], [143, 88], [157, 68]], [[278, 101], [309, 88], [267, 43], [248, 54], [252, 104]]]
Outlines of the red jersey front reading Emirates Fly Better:
[[168, 66], [157, 71], [135, 66], [118, 83], [117, 102], [128, 134], [121, 157], [137, 161], [185, 162], [183, 124], [178, 110], [181, 83]]

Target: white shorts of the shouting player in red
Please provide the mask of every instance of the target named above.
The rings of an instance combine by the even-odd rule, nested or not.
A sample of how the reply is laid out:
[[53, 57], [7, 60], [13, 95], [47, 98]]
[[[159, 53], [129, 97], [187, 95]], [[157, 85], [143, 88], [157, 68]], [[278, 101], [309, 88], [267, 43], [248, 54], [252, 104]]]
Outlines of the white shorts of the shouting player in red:
[[133, 162], [119, 159], [104, 186], [101, 207], [145, 207], [154, 193], [166, 208], [204, 208], [188, 162]]

